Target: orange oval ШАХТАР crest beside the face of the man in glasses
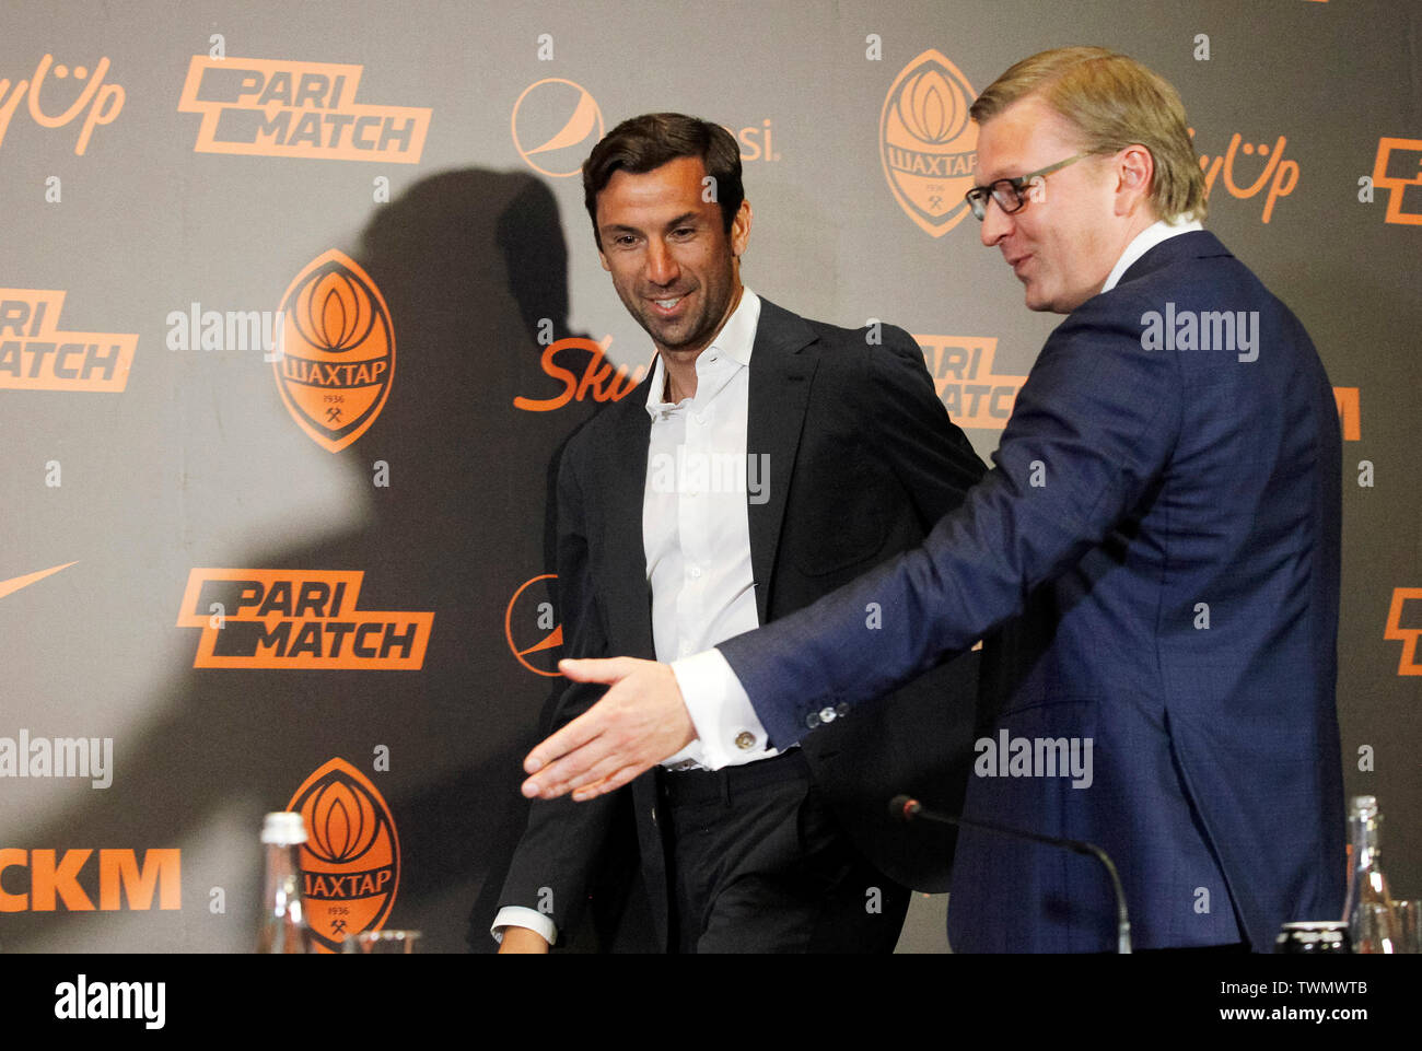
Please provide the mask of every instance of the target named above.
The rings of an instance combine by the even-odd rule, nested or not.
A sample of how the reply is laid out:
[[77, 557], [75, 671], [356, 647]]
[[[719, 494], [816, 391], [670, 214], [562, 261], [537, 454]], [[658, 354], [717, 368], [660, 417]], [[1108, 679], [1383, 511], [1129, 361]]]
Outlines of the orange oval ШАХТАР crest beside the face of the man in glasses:
[[919, 228], [941, 238], [968, 213], [977, 125], [968, 107], [977, 92], [933, 48], [910, 61], [889, 88], [879, 117], [879, 156], [889, 189]]

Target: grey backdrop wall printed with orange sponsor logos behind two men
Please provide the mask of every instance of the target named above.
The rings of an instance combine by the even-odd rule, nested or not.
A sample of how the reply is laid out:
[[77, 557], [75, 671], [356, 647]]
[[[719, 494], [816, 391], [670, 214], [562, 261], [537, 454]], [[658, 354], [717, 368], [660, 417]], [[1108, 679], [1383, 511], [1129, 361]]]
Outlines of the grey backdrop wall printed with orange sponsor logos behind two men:
[[1058, 319], [964, 216], [964, 111], [1068, 43], [1179, 87], [1209, 229], [1337, 385], [1347, 786], [1422, 895], [1419, 37], [1382, 0], [10, 0], [0, 949], [247, 950], [289, 806], [324, 937], [492, 947], [549, 472], [651, 353], [580, 161], [648, 110], [731, 128], [747, 283], [909, 329], [985, 457]]

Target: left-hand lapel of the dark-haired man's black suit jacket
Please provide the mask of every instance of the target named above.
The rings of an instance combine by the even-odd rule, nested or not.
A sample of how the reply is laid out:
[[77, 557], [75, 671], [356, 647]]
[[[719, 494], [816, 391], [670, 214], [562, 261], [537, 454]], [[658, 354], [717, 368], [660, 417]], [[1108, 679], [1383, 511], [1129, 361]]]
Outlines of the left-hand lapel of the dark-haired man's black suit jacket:
[[651, 589], [647, 585], [647, 552], [641, 536], [643, 489], [647, 484], [647, 383], [609, 410], [621, 418], [603, 451], [606, 512], [609, 634], [613, 653], [653, 658]]

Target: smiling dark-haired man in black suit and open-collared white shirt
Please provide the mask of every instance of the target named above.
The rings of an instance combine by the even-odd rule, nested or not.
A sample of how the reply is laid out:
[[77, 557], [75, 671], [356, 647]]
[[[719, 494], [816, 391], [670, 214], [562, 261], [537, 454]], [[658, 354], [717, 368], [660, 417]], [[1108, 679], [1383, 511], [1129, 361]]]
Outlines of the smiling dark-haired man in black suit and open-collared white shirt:
[[[775, 620], [917, 545], [983, 475], [912, 337], [809, 321], [741, 284], [751, 206], [722, 128], [626, 121], [583, 185], [603, 269], [657, 364], [560, 464], [570, 656], [670, 660]], [[633, 781], [630, 799], [535, 802], [493, 922], [502, 951], [546, 951], [576, 923], [617, 796], [636, 816], [660, 947], [892, 951], [904, 885], [940, 889], [950, 848], [889, 828], [886, 802], [904, 789], [957, 802], [971, 710], [944, 694], [968, 698], [971, 670], [936, 670], [902, 707], [846, 720], [852, 734], [826, 727], [778, 752], [727, 727], [739, 762], [724, 769], [693, 745]], [[602, 693], [572, 684], [556, 724]], [[691, 704], [717, 718], [718, 698]]]

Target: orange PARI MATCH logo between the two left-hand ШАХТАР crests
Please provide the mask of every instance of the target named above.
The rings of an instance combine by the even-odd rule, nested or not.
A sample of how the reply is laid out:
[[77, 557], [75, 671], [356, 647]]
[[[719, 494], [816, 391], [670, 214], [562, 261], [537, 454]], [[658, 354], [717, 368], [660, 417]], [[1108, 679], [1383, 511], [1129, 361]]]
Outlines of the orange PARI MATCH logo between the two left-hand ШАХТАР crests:
[[178, 627], [195, 668], [418, 671], [434, 613], [358, 610], [363, 570], [195, 569]]

